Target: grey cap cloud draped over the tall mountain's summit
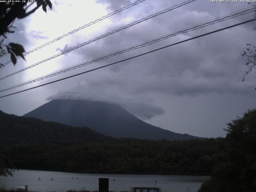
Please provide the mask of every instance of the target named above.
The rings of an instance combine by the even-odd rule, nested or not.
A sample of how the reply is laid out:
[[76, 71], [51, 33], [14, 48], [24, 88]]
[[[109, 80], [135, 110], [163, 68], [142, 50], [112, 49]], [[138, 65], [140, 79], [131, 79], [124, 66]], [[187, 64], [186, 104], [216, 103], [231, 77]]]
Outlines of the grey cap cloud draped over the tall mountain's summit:
[[[50, 96], [47, 100], [82, 99], [110, 102], [122, 106], [128, 112], [143, 120], [164, 114], [163, 108], [149, 104], [150, 102], [147, 102], [149, 101], [148, 98], [129, 96], [128, 92], [120, 89], [120, 87], [114, 88], [111, 84], [110, 82], [102, 83], [98, 81], [87, 84], [84, 81], [80, 81], [76, 86]], [[127, 95], [124, 96], [125, 94]]]

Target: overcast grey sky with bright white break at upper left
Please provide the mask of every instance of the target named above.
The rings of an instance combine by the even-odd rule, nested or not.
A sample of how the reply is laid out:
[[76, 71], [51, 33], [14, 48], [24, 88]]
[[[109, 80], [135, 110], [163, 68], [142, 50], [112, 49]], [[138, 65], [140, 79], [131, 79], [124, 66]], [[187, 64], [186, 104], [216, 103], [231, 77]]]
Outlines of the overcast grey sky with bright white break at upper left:
[[[40, 8], [29, 17], [16, 20], [15, 33], [5, 43], [22, 44], [26, 51], [96, 20], [135, 0], [51, 0], [47, 14]], [[232, 1], [232, 0], [231, 0]], [[146, 0], [108, 19], [89, 26], [0, 69], [0, 77], [20, 70], [87, 42], [102, 34], [154, 14], [183, 0]], [[86, 62], [123, 48], [151, 40], [207, 20], [249, 8], [241, 2], [196, 0], [140, 24], [124, 29], [0, 81], [0, 88]], [[72, 74], [129, 58], [253, 18], [253, 13], [48, 78], [28, 86], [0, 93], [10, 94]], [[256, 107], [256, 91], [245, 86], [242, 53], [246, 43], [256, 44], [254, 24], [243, 24], [210, 34], [126, 62], [102, 68], [54, 84], [0, 98], [0, 110], [23, 115], [52, 99], [90, 99], [113, 102], [142, 120], [167, 130], [203, 137], [224, 137], [226, 124]], [[9, 56], [1, 58], [1, 62]], [[255, 82], [255, 73], [246, 84]]]

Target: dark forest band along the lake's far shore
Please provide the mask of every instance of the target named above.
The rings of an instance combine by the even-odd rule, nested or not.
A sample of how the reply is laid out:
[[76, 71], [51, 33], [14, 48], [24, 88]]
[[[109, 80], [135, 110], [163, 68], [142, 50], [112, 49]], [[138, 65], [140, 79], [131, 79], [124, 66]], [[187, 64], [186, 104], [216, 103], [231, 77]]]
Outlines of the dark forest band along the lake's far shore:
[[224, 138], [139, 139], [0, 146], [17, 168], [79, 173], [210, 175]]

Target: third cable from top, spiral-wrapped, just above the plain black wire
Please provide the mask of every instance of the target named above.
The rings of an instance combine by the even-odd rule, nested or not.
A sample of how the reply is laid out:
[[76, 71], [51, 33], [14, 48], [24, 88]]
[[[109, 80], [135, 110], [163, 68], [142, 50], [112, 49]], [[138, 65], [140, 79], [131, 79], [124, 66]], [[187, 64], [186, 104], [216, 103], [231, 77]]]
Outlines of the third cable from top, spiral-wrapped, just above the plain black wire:
[[80, 64], [76, 64], [74, 66], [71, 66], [71, 67], [68, 67], [68, 68], [64, 68], [62, 70], [58, 70], [56, 72], [52, 72], [50, 74], [47, 74], [47, 75], [44, 75], [44, 76], [40, 76], [38, 78], [34, 78], [32, 80], [28, 80], [26, 82], [21, 82], [19, 84], [15, 84], [13, 86], [8, 86], [6, 88], [2, 88], [2, 90], [0, 90], [0, 92], [5, 92], [5, 91], [8, 91], [8, 90], [11, 90], [11, 89], [14, 89], [14, 88], [18, 88], [18, 87], [21, 87], [21, 86], [25, 86], [27, 84], [31, 84], [31, 83], [34, 83], [34, 82], [37, 82], [37, 81], [40, 81], [40, 80], [43, 80], [45, 78], [50, 78], [52, 76], [56, 76], [58, 74], [62, 74], [62, 73], [65, 73], [65, 72], [68, 72], [68, 71], [71, 71], [71, 70], [74, 70], [74, 69], [77, 69], [77, 68], [80, 68], [80, 67], [83, 67], [83, 66], [86, 66], [86, 65], [89, 65], [89, 64], [92, 64], [92, 63], [95, 63], [95, 62], [99, 62], [101, 60], [105, 60], [107, 58], [110, 58], [110, 57], [113, 57], [113, 56], [116, 56], [116, 55], [119, 55], [119, 54], [122, 54], [122, 53], [125, 53], [125, 52], [129, 52], [131, 50], [135, 50], [135, 49], [138, 49], [138, 48], [142, 48], [144, 46], [148, 46], [148, 45], [151, 45], [151, 44], [154, 44], [156, 42], [160, 42], [162, 40], [166, 40], [168, 38], [171, 38], [171, 37], [174, 37], [174, 36], [177, 36], [177, 35], [180, 35], [180, 34], [184, 34], [186, 32], [190, 32], [190, 31], [193, 31], [193, 30], [196, 30], [196, 29], [199, 29], [199, 28], [203, 28], [203, 27], [206, 27], [206, 26], [209, 26], [209, 25], [212, 25], [212, 24], [215, 24], [215, 23], [218, 23], [218, 22], [222, 22], [224, 20], [228, 20], [228, 19], [231, 19], [231, 18], [234, 18], [234, 17], [237, 17], [237, 16], [242, 16], [244, 14], [248, 14], [250, 12], [253, 12], [255, 9], [254, 8], [250, 8], [248, 10], [244, 10], [242, 12], [235, 12], [235, 14], [229, 14], [229, 16], [223, 16], [223, 17], [218, 17], [218, 19], [213, 19], [213, 20], [210, 20], [210, 21], [206, 21], [204, 23], [201, 23], [199, 25], [194, 25], [192, 27], [189, 27], [189, 28], [185, 28], [183, 30], [178, 30], [176, 32], [173, 32], [171, 34], [167, 34], [165, 36], [161, 36], [160, 38], [155, 38], [153, 40], [149, 40], [149, 41], [146, 41], [144, 43], [141, 43], [141, 44], [137, 44], [135, 46], [131, 46], [129, 48], [126, 48], [126, 49], [123, 49], [123, 50], [119, 50], [117, 52], [114, 52], [114, 53], [111, 53], [111, 54], [108, 54], [108, 55], [105, 55], [105, 56], [102, 56], [102, 57], [99, 57], [99, 58], [96, 58], [94, 60], [90, 60], [90, 61], [87, 61], [87, 62], [83, 62], [83, 63], [80, 63]]

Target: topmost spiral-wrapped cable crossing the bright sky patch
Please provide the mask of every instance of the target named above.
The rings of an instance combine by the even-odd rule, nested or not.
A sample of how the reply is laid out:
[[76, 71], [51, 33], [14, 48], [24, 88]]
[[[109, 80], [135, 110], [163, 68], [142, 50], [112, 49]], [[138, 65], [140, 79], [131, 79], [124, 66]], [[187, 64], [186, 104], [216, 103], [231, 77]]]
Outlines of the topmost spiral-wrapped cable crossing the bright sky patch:
[[[52, 44], [53, 42], [56, 42], [56, 41], [58, 41], [58, 40], [60, 40], [60, 39], [62, 39], [62, 38], [64, 38], [64, 37], [66, 37], [66, 36], [68, 36], [68, 35], [71, 35], [71, 34], [73, 34], [73, 33], [75, 33], [75, 32], [78, 32], [79, 30], [84, 29], [84, 28], [86, 28], [86, 27], [88, 27], [88, 26], [90, 26], [90, 25], [92, 25], [92, 24], [95, 24], [95, 23], [97, 23], [97, 22], [99, 22], [99, 21], [102, 21], [102, 20], [104, 20], [104, 19], [106, 19], [106, 18], [109, 18], [109, 17], [111, 17], [111, 16], [113, 16], [113, 15], [115, 15], [115, 14], [117, 14], [117, 13], [123, 11], [123, 10], [126, 10], [126, 9], [128, 9], [128, 8], [130, 8], [130, 7], [132, 7], [132, 6], [135, 6], [135, 5], [139, 4], [139, 3], [142, 3], [142, 2], [144, 2], [144, 1], [146, 1], [146, 0], [138, 0], [138, 1], [136, 1], [136, 2], [134, 2], [134, 3], [131, 3], [131, 4], [127, 5], [127, 6], [125, 6], [125, 7], [122, 7], [122, 8], [120, 8], [120, 9], [118, 9], [118, 10], [112, 12], [112, 13], [109, 13], [109, 14], [103, 16], [102, 18], [96, 19], [96, 20], [94, 20], [94, 21], [92, 21], [92, 22], [90, 22], [90, 23], [88, 23], [88, 24], [85, 24], [84, 26], [81, 26], [81, 27], [79, 27], [79, 28], [77, 28], [77, 29], [75, 29], [75, 30], [73, 30], [73, 31], [71, 31], [71, 32], [68, 32], [68, 33], [66, 33], [66, 34], [64, 34], [64, 35], [62, 35], [62, 36], [60, 36], [60, 37], [58, 37], [58, 38], [56, 38], [56, 39], [54, 39], [54, 40], [49, 41], [48, 43], [45, 43], [45, 44], [43, 44], [43, 45], [41, 45], [41, 46], [38, 46], [37, 48], [34, 48], [33, 50], [30, 50], [29, 52], [26, 52], [26, 53], [24, 54], [24, 56], [26, 56], [26, 55], [28, 55], [28, 54], [34, 52], [34, 51], [37, 51], [37, 50], [39, 50], [39, 49], [41, 49], [41, 48], [43, 48], [43, 47], [45, 47], [45, 46], [47, 46], [47, 45], [49, 45], [49, 44]], [[18, 56], [16, 59], [19, 59], [19, 58], [21, 58], [21, 57]], [[10, 60], [10, 61], [4, 63], [4, 66], [5, 66], [6, 64], [10, 63], [10, 62], [12, 62], [12, 61]]]

